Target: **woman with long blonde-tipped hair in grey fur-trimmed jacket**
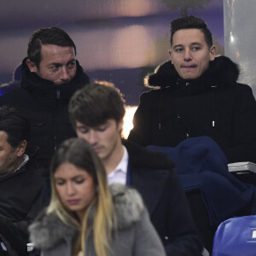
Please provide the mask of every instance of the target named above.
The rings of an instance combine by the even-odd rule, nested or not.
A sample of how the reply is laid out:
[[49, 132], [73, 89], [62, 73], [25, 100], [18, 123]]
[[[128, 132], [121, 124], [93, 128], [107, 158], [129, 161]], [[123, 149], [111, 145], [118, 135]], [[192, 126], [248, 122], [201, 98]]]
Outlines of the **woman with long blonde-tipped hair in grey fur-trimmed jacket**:
[[108, 187], [93, 148], [73, 138], [55, 153], [49, 207], [29, 227], [41, 255], [164, 256], [141, 196], [121, 184]]

